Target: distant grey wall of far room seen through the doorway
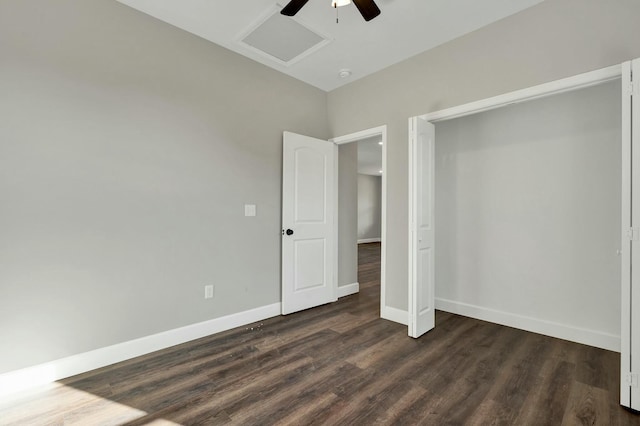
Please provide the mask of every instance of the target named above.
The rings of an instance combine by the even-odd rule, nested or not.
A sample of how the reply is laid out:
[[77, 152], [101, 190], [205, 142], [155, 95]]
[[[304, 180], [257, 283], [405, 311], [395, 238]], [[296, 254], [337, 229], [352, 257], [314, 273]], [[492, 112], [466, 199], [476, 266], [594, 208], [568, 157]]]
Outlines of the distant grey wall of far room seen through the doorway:
[[358, 240], [380, 238], [382, 178], [358, 174]]

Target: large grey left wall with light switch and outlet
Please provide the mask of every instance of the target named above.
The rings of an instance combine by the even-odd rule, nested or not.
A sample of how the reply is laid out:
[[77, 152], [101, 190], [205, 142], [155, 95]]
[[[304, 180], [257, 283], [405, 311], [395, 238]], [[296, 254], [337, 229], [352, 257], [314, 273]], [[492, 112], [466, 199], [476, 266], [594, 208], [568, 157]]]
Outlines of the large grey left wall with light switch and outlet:
[[0, 93], [0, 373], [280, 301], [282, 131], [327, 138], [324, 92], [115, 1], [13, 0]]

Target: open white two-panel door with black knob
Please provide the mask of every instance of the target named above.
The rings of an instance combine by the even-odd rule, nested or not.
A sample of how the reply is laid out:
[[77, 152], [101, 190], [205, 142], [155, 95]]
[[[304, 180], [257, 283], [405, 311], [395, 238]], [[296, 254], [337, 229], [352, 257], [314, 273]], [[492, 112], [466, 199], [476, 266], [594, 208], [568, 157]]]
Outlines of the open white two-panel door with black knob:
[[337, 300], [335, 144], [284, 132], [282, 314]]

